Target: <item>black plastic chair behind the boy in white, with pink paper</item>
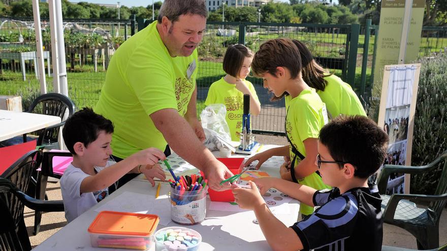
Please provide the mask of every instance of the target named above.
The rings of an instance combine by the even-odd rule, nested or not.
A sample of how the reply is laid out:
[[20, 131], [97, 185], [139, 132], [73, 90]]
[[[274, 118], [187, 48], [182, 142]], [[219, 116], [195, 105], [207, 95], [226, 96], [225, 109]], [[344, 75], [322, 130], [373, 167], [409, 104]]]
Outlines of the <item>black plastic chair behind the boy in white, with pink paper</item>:
[[[56, 156], [69, 158], [69, 157], [72, 157], [72, 154], [70, 152], [44, 152], [43, 153], [41, 171], [37, 178], [36, 199], [43, 200], [45, 198], [45, 191], [47, 189], [48, 177], [58, 178], [59, 180], [62, 177], [62, 174], [53, 172], [53, 158]], [[38, 234], [40, 231], [41, 219], [42, 219], [42, 212], [39, 210], [36, 210], [36, 213], [34, 216], [34, 230], [33, 230], [33, 233], [35, 235]]]

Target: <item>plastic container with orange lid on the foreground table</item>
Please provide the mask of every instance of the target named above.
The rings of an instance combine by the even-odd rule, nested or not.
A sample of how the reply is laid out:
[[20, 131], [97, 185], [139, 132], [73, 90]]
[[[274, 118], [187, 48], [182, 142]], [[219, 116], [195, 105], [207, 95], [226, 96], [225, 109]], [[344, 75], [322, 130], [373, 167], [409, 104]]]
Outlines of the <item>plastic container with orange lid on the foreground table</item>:
[[155, 250], [154, 214], [101, 211], [88, 227], [92, 247]]

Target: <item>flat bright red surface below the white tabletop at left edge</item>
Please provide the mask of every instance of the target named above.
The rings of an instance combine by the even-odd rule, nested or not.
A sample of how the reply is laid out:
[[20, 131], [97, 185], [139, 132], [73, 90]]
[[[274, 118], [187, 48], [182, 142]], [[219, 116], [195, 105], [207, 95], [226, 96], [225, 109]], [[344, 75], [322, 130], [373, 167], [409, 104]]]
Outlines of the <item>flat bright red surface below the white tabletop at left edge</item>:
[[27, 152], [36, 149], [37, 140], [0, 148], [0, 175]]

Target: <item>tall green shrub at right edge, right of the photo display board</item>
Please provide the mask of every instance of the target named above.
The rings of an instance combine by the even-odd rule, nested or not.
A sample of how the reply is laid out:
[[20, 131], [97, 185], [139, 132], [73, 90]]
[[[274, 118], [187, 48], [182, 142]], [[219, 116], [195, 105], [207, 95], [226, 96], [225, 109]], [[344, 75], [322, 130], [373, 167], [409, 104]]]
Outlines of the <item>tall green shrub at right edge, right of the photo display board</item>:
[[[447, 54], [441, 53], [419, 61], [422, 66], [411, 165], [428, 164], [447, 150]], [[442, 167], [429, 173], [412, 175], [411, 193], [433, 194]]]

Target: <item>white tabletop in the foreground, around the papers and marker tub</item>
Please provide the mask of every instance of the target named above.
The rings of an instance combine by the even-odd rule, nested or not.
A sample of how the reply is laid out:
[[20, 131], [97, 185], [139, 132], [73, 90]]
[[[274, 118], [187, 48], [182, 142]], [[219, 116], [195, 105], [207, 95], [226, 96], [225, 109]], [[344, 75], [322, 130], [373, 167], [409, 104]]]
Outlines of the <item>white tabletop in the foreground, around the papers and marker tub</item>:
[[[266, 146], [263, 150], [267, 150], [269, 147]], [[269, 163], [266, 162], [261, 169], [267, 171], [271, 176], [279, 176], [279, 166], [276, 166], [277, 162], [280, 162], [280, 160], [274, 159]], [[168, 183], [163, 183], [160, 194], [166, 195], [169, 191], [169, 187]], [[33, 250], [122, 250], [91, 247], [87, 228], [98, 214], [94, 209], [113, 200], [115, 197], [126, 191], [154, 195], [155, 189], [156, 187], [152, 188], [148, 182], [136, 180], [130, 181], [90, 210], [76, 218], [73, 222], [60, 229]], [[208, 209], [209, 204], [210, 200], [207, 198], [206, 218], [201, 224], [186, 226], [198, 231], [202, 235], [203, 241], [200, 250], [271, 250], [261, 228], [259, 225], [253, 223], [253, 220], [256, 219], [253, 211], [215, 211]], [[292, 226], [298, 218], [299, 201], [292, 200], [288, 206], [290, 207], [290, 213], [279, 214], [277, 217], [286, 226]], [[169, 208], [167, 208], [167, 210], [169, 210]], [[168, 226], [179, 225], [171, 222]], [[164, 227], [166, 226], [159, 225], [158, 229]]]

